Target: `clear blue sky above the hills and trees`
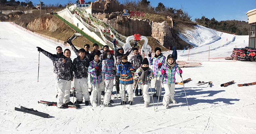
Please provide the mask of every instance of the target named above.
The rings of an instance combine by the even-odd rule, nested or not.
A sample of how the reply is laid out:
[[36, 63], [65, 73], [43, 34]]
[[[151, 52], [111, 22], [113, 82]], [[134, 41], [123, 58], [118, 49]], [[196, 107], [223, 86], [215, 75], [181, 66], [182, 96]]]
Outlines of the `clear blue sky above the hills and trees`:
[[[24, 1], [24, 0], [20, 0]], [[39, 4], [39, 0], [31, 0], [33, 4]], [[70, 0], [42, 0], [44, 4], [60, 3], [65, 5]], [[73, 3], [76, 0], [71, 0]], [[94, 0], [95, 1], [95, 0]], [[208, 19], [213, 17], [218, 20], [243, 20], [248, 22], [246, 12], [256, 8], [256, 0], [148, 0], [153, 7], [156, 7], [159, 2], [163, 3], [165, 7], [173, 7], [180, 9], [180, 5], [195, 18], [201, 18], [202, 15]], [[88, 2], [88, 0], [85, 0]], [[123, 0], [119, 0], [120, 3]]]

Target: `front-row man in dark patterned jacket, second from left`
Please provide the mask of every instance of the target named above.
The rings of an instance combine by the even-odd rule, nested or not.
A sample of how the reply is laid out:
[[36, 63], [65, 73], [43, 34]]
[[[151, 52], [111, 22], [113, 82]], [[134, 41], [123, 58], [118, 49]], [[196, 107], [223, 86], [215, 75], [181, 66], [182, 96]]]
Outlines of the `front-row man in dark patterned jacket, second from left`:
[[85, 105], [89, 105], [89, 92], [88, 92], [88, 67], [89, 59], [85, 57], [85, 49], [81, 48], [78, 51], [79, 56], [73, 60], [75, 72], [75, 87], [76, 87], [76, 102], [75, 104], [83, 103], [83, 93]]

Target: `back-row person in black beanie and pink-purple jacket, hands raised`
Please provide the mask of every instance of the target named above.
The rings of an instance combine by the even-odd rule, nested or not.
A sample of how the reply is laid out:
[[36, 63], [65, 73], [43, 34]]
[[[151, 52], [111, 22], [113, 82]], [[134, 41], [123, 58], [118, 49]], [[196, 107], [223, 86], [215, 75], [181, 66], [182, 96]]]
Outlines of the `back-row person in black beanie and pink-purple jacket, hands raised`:
[[161, 53], [162, 50], [161, 48], [156, 47], [155, 48], [155, 56], [153, 58], [151, 58], [151, 53], [148, 54], [148, 60], [149, 60], [149, 65], [153, 65], [153, 72], [154, 72], [154, 79], [153, 79], [153, 83], [156, 83], [156, 93], [153, 95], [153, 97], [158, 98], [159, 92], [159, 100], [161, 100], [161, 93], [162, 90], [160, 90], [161, 87], [161, 82], [160, 82], [160, 78], [162, 77], [161, 71], [159, 71], [159, 69], [162, 67], [162, 65], [165, 62], [166, 57]]

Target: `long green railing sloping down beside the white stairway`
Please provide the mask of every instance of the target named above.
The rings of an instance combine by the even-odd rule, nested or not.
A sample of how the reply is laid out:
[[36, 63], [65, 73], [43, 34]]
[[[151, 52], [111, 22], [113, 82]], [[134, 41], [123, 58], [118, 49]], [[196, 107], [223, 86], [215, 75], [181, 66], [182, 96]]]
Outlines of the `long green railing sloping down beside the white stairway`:
[[59, 19], [61, 19], [62, 21], [64, 21], [66, 24], [68, 24], [68, 26], [72, 27], [74, 30], [76, 30], [77, 33], [81, 33], [85, 38], [87, 38], [89, 41], [91, 41], [92, 43], [97, 43], [98, 45], [100, 45], [100, 47], [102, 48], [104, 45], [100, 44], [100, 42], [94, 40], [93, 37], [89, 36], [88, 34], [84, 33], [81, 29], [79, 29], [78, 27], [74, 26], [73, 24], [69, 23], [67, 20], [65, 20], [64, 18], [60, 17], [58, 14], [53, 13], [55, 16], [57, 16]]

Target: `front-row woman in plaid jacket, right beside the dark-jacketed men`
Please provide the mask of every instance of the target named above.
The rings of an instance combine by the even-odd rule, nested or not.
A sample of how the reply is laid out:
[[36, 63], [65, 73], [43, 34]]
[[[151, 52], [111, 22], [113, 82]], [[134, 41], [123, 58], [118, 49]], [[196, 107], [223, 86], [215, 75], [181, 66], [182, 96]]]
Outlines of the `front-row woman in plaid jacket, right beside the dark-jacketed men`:
[[[100, 61], [100, 56], [95, 54], [94, 60], [90, 62], [88, 67], [88, 72], [91, 74], [91, 84], [93, 85], [92, 95], [90, 98], [92, 106], [98, 106], [96, 103], [96, 96], [99, 93], [100, 83], [102, 82], [101, 73], [102, 64]], [[98, 100], [99, 103], [99, 100]]]

